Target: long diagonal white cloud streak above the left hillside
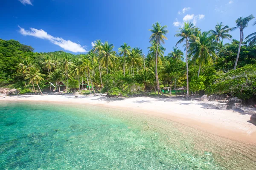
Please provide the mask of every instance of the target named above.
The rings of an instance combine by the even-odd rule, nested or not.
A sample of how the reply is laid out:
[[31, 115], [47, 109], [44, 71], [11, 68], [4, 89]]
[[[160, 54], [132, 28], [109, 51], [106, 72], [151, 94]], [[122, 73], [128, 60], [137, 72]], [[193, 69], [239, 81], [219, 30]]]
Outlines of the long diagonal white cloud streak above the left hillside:
[[80, 44], [77, 44], [70, 40], [64, 40], [63, 38], [53, 37], [52, 35], [47, 34], [47, 32], [45, 32], [42, 29], [38, 30], [35, 28], [30, 28], [30, 31], [29, 31], [29, 30], [25, 30], [24, 28], [21, 28], [20, 26], [18, 26], [18, 27], [20, 28], [19, 32], [22, 35], [25, 35], [25, 36], [29, 35], [29, 36], [41, 38], [44, 40], [49, 40], [50, 42], [52, 42], [55, 45], [60, 46], [64, 50], [72, 51], [74, 53], [87, 52]]

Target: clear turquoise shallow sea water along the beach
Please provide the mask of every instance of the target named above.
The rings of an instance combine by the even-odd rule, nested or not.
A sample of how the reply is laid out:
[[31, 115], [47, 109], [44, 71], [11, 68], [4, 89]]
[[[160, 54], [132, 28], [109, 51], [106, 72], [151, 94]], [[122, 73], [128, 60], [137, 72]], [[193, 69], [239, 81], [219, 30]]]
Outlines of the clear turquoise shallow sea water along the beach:
[[0, 169], [254, 169], [256, 148], [90, 106], [0, 103]]

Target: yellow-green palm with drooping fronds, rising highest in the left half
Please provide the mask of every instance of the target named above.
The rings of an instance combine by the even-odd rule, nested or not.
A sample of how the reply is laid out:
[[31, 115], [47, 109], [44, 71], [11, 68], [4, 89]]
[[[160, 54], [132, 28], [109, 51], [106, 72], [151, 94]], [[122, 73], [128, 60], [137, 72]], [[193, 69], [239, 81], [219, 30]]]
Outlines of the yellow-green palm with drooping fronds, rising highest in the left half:
[[102, 50], [101, 50], [101, 54], [102, 54], [102, 59], [101, 59], [101, 63], [103, 66], [106, 67], [106, 71], [108, 74], [108, 66], [110, 65], [111, 67], [113, 67], [113, 62], [114, 59], [116, 58], [116, 51], [113, 51], [113, 44], [109, 44], [108, 41], [106, 41], [103, 45], [102, 45]]

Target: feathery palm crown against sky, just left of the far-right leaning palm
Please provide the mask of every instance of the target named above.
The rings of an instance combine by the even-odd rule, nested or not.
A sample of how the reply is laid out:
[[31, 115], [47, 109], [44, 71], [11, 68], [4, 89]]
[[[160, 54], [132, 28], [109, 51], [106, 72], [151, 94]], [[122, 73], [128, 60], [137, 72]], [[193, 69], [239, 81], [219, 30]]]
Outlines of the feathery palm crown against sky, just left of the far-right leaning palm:
[[224, 26], [222, 23], [217, 23], [215, 26], [215, 30], [211, 30], [210, 32], [214, 35], [214, 39], [216, 42], [221, 42], [221, 38], [231, 40], [232, 36], [228, 34], [230, 31], [229, 26]]

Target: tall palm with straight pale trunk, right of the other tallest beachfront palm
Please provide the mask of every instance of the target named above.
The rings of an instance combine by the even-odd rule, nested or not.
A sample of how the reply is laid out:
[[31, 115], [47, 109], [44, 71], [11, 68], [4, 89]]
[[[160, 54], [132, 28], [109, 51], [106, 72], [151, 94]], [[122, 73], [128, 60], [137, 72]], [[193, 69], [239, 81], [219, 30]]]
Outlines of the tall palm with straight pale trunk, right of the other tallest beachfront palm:
[[188, 65], [188, 48], [189, 40], [195, 40], [195, 27], [192, 23], [184, 23], [183, 28], [179, 28], [178, 34], [175, 34], [175, 37], [181, 37], [177, 42], [176, 46], [183, 41], [186, 41], [186, 81], [187, 81], [187, 94], [186, 97], [189, 97], [189, 65]]

